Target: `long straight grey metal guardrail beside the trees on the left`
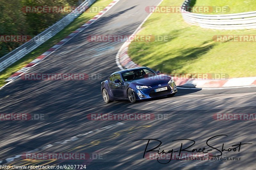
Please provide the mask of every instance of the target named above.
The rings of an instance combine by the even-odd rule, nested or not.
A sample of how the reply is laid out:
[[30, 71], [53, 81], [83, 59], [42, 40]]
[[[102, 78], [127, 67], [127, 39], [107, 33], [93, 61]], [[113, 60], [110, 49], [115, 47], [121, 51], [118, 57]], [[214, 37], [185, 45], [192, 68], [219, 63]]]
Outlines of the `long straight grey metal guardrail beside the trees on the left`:
[[33, 39], [22, 44], [16, 49], [12, 50], [10, 53], [4, 55], [0, 58], [0, 72], [5, 68], [9, 67], [16, 61], [20, 60], [22, 57], [36, 49], [38, 46], [42, 45], [47, 40], [51, 39], [54, 35], [63, 30], [67, 25], [69, 25], [74, 19], [79, 17], [85, 10], [87, 10], [96, 0], [85, 0], [80, 4], [75, 10], [70, 12], [60, 21], [50, 26]]

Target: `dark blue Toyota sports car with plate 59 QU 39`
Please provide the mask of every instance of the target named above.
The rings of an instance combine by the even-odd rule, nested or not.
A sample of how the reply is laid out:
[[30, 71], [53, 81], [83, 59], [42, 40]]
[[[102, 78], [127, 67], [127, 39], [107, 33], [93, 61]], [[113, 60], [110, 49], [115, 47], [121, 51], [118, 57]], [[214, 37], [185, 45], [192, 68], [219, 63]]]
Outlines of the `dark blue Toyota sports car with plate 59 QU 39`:
[[159, 96], [174, 96], [177, 87], [174, 80], [148, 67], [117, 71], [101, 82], [101, 94], [106, 103], [113, 100], [139, 100]]

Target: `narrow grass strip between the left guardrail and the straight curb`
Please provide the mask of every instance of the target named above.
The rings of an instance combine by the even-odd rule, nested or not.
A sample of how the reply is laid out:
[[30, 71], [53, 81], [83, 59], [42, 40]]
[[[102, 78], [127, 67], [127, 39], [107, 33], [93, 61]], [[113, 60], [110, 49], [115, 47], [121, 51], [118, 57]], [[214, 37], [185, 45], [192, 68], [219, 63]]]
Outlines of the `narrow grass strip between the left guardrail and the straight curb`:
[[[91, 8], [93, 7], [106, 7], [110, 4], [113, 0], [98, 0], [95, 2]], [[101, 8], [100, 8], [101, 9]], [[26, 66], [29, 62], [37, 58], [39, 55], [47, 51], [49, 48], [57, 44], [60, 40], [67, 37], [71, 32], [78, 29], [82, 26], [85, 22], [93, 18], [97, 13], [85, 11], [81, 14], [78, 18], [76, 18], [71, 24], [65, 27], [61, 32], [57, 35], [46, 41], [44, 44], [36, 48], [31, 53], [27, 54], [25, 57], [20, 59], [19, 61], [12, 64], [10, 67], [6, 68], [4, 71], [0, 72], [0, 87], [6, 84], [5, 80], [11, 76], [13, 73], [21, 69], [22, 67]]]

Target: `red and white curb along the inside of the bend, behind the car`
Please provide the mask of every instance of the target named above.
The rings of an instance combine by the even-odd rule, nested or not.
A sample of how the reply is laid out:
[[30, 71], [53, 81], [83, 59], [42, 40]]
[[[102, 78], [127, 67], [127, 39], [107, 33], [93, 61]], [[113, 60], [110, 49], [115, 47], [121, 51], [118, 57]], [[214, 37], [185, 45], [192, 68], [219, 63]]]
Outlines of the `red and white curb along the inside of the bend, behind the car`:
[[[162, 2], [163, 1], [161, 1], [157, 6], [159, 6]], [[148, 20], [148, 18], [151, 16], [152, 13], [148, 15], [148, 17], [141, 23], [141, 25], [131, 35], [131, 37], [140, 31], [142, 25]], [[130, 44], [131, 44], [131, 41], [127, 40], [123, 44], [123, 46], [119, 49], [118, 53], [116, 54], [116, 64], [121, 70], [123, 70], [124, 68], [140, 67], [138, 64], [134, 63], [130, 58], [130, 56], [128, 55], [128, 48]], [[256, 87], [256, 77], [231, 78], [227, 80], [178, 79], [177, 77], [173, 77], [173, 79], [175, 80], [177, 86], [188, 87], [189, 89], [193, 87], [206, 88], [206, 89], [211, 89], [211, 88], [226, 89], [230, 87], [232, 88]]]

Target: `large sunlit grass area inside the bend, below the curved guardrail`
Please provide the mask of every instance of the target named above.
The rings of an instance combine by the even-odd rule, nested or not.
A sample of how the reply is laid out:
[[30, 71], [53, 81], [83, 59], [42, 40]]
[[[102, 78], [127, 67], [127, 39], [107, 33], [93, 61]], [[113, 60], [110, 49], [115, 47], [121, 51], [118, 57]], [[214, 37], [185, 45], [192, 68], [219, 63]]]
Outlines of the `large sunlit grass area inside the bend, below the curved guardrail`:
[[[183, 0], [164, 0], [178, 6]], [[167, 42], [132, 42], [128, 54], [140, 66], [164, 73], [224, 73], [256, 76], [256, 42], [215, 42], [214, 35], [256, 35], [256, 30], [222, 31], [188, 25], [180, 13], [153, 13], [140, 35], [168, 35]]]

